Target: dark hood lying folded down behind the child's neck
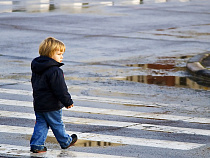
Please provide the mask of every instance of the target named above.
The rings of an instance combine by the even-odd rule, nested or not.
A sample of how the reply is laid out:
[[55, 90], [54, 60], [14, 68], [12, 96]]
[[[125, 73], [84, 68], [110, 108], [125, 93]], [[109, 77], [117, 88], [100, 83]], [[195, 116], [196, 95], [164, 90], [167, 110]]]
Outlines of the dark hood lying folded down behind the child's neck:
[[39, 56], [31, 62], [31, 70], [34, 73], [42, 74], [45, 70], [49, 69], [52, 66], [60, 67], [62, 65], [64, 64], [59, 63], [52, 58], [46, 56]]

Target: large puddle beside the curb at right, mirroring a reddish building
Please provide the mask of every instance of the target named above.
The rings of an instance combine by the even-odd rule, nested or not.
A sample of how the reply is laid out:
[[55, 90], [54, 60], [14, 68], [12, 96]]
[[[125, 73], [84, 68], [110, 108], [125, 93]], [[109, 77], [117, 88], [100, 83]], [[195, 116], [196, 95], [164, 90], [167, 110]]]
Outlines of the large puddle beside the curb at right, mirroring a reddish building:
[[116, 79], [145, 84], [155, 84], [158, 86], [210, 90], [208, 83], [206, 83], [206, 85], [205, 83], [199, 85], [186, 75], [186, 61], [189, 59], [189, 57], [190, 56], [161, 57], [156, 63], [152, 64], [128, 64], [126, 66], [132, 67], [139, 72], [144, 72], [147, 75], [132, 75]]

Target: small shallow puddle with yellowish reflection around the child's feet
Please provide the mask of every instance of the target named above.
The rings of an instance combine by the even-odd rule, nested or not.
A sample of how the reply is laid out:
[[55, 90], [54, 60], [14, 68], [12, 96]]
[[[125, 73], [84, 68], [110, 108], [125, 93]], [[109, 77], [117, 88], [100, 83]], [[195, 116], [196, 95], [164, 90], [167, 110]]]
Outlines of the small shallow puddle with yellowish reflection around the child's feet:
[[[26, 136], [27, 140], [31, 139], [31, 136]], [[47, 137], [47, 143], [58, 144], [55, 137]], [[109, 146], [122, 146], [124, 144], [119, 143], [111, 143], [111, 142], [103, 142], [103, 141], [89, 141], [89, 140], [77, 140], [77, 142], [73, 145], [76, 147], [109, 147]]]

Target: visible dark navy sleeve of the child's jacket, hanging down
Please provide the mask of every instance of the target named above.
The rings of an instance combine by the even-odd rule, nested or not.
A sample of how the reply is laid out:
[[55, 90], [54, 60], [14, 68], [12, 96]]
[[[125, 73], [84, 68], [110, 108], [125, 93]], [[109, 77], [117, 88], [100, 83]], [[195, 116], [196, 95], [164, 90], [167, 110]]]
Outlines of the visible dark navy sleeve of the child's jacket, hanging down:
[[65, 83], [63, 71], [60, 68], [57, 67], [57, 69], [51, 73], [49, 82], [54, 95], [65, 107], [73, 104], [73, 100]]

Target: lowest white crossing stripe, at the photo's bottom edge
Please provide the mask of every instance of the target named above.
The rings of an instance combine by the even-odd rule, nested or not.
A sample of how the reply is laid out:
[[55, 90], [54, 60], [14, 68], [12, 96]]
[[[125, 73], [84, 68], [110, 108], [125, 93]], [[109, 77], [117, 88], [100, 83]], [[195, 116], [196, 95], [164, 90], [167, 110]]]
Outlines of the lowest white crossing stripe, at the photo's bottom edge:
[[[116, 155], [105, 155], [105, 154], [96, 154], [96, 153], [87, 153], [87, 152], [77, 152], [69, 150], [53, 150], [47, 149], [46, 153], [32, 153], [30, 152], [30, 147], [9, 145], [9, 144], [0, 144], [0, 154], [4, 155], [16, 155], [16, 156], [29, 156], [29, 157], [96, 157], [96, 158], [123, 158], [122, 156]], [[128, 158], [128, 157], [124, 157]]]

